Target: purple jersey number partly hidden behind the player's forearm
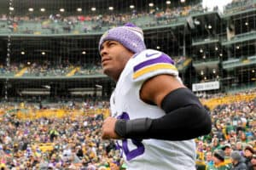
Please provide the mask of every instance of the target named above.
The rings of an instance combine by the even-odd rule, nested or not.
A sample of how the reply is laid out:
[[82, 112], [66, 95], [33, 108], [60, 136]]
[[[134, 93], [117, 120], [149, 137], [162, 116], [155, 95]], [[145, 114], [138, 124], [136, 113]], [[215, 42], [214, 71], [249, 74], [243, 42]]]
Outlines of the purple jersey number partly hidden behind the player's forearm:
[[[125, 119], [125, 120], [130, 120], [129, 115], [126, 112], [123, 112], [122, 115], [118, 116], [118, 119]], [[128, 148], [128, 141], [127, 139], [122, 140], [122, 149], [125, 152], [125, 156], [127, 161], [130, 161], [131, 159], [143, 155], [145, 151], [145, 147], [142, 143], [142, 140], [137, 140], [137, 139], [131, 139], [132, 144], [137, 146], [136, 149], [134, 150], [129, 150]]]

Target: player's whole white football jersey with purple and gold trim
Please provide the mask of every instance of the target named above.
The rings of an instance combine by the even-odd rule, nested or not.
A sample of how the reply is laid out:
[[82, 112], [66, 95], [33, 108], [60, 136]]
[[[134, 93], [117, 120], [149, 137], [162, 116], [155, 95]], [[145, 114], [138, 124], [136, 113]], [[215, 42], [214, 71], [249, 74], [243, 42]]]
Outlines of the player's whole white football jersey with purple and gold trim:
[[[125, 65], [111, 96], [112, 116], [126, 120], [164, 116], [166, 113], [158, 106], [140, 99], [143, 82], [160, 74], [170, 74], [181, 81], [168, 55], [153, 49], [135, 54]], [[118, 144], [130, 170], [195, 170], [194, 139], [123, 139]]]

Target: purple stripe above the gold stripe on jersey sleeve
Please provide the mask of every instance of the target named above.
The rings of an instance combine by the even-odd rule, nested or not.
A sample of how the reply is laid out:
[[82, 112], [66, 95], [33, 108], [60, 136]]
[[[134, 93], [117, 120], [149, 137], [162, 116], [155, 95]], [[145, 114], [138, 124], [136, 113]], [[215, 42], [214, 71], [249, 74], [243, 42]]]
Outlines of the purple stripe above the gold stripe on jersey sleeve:
[[149, 59], [147, 61], [144, 61], [143, 63], [140, 63], [139, 65], [135, 65], [133, 71], [136, 72], [145, 66], [154, 65], [157, 63], [168, 63], [174, 65], [174, 61], [167, 54], [161, 54], [160, 57], [156, 59]]

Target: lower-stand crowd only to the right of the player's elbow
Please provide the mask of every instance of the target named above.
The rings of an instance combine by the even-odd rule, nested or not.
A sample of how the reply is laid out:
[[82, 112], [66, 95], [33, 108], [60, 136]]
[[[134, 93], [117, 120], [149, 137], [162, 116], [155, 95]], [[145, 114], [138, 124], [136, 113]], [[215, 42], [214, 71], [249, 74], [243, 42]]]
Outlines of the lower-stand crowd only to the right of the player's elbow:
[[[217, 97], [224, 104], [211, 111], [212, 133], [197, 140], [198, 169], [256, 168], [255, 93], [254, 89], [236, 94], [231, 103], [224, 101], [224, 94], [201, 95], [208, 99]], [[245, 101], [250, 94], [253, 99]], [[245, 98], [241, 99], [241, 96]]]

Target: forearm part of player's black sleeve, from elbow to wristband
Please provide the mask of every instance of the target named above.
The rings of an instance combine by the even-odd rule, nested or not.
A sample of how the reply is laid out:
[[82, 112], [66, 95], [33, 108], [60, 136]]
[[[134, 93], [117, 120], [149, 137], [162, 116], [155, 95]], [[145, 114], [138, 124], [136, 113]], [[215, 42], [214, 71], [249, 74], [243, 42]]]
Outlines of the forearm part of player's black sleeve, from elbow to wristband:
[[154, 139], [185, 140], [210, 133], [211, 128], [207, 111], [197, 105], [188, 105], [153, 120], [148, 132]]

